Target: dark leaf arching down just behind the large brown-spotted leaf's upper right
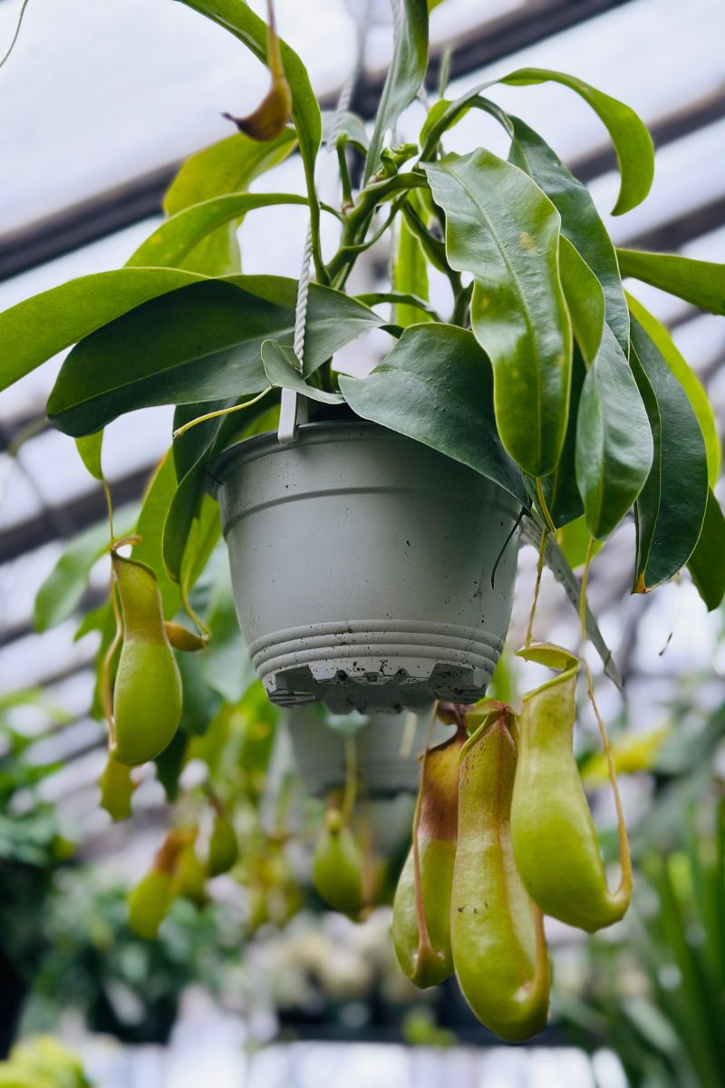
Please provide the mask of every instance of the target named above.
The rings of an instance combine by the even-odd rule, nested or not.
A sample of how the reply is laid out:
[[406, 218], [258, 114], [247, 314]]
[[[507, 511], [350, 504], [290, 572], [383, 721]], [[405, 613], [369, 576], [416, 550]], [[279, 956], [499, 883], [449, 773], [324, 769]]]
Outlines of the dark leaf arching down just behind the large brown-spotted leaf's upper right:
[[530, 174], [561, 215], [562, 234], [602, 285], [607, 322], [628, 356], [629, 313], [616, 252], [588, 188], [574, 177], [533, 128], [518, 118], [509, 121], [514, 134], [510, 161]]

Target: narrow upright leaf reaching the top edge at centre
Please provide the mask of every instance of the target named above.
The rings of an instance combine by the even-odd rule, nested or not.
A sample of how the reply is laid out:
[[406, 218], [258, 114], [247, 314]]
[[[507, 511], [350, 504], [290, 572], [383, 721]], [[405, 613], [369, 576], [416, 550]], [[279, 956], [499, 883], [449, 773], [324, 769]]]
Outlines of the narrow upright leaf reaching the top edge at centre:
[[377, 108], [375, 127], [365, 160], [364, 183], [380, 161], [385, 134], [417, 95], [428, 66], [428, 8], [426, 0], [401, 0], [400, 33]]

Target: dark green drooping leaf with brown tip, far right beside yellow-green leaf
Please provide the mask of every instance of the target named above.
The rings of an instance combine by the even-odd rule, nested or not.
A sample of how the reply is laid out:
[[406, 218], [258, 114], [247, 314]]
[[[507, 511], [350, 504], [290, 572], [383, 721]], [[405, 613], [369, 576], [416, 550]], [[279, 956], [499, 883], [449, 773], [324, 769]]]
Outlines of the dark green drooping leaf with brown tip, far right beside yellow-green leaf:
[[632, 345], [634, 375], [641, 367], [653, 394], [652, 399], [649, 390], [642, 391], [640, 380], [654, 438], [652, 468], [635, 507], [634, 589], [646, 593], [673, 578], [695, 549], [708, 503], [708, 461], [685, 391], [634, 319]]

